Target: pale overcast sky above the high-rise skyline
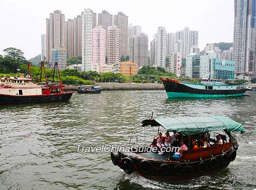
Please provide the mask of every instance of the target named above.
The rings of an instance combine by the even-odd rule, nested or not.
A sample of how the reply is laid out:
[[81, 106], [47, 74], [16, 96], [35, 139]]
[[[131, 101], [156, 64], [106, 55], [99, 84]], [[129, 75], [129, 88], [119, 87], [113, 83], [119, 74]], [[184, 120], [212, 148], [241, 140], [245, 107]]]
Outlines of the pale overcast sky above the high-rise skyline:
[[59, 9], [67, 20], [84, 8], [113, 15], [124, 12], [149, 41], [159, 26], [167, 32], [188, 26], [199, 31], [200, 50], [209, 42], [233, 42], [233, 0], [0, 0], [0, 54], [4, 48], [18, 47], [27, 59], [39, 55], [50, 12]]

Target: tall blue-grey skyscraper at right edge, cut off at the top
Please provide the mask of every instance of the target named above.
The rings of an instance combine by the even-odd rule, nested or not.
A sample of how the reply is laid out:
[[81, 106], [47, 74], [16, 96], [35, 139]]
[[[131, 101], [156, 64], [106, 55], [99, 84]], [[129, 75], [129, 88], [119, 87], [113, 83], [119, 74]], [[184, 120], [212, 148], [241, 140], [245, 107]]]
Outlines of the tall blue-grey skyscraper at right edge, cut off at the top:
[[256, 0], [234, 0], [236, 72], [256, 72]]

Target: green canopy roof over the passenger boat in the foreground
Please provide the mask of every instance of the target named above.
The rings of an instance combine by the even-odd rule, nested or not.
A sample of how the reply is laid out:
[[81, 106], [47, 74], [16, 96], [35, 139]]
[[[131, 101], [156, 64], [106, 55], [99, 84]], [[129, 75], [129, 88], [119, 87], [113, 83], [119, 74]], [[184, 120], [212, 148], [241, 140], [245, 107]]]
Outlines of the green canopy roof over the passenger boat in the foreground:
[[244, 132], [241, 123], [223, 116], [211, 117], [160, 117], [153, 120], [143, 121], [143, 126], [163, 126], [167, 131], [180, 132], [183, 135], [199, 134], [225, 130], [226, 132]]

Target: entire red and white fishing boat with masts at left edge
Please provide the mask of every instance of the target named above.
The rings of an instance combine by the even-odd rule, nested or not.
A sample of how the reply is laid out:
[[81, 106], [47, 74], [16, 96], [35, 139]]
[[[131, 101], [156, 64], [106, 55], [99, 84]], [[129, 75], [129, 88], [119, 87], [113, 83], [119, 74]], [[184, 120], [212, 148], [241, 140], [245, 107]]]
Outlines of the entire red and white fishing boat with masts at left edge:
[[[63, 91], [64, 85], [61, 83], [61, 75], [58, 63], [55, 64], [53, 81], [49, 82], [45, 72], [45, 83], [42, 83], [42, 69], [45, 72], [44, 63], [41, 62], [41, 84], [34, 83], [32, 79], [31, 63], [28, 64], [28, 75], [26, 77], [1, 77], [0, 79], [0, 105], [4, 104], [29, 104], [42, 102], [64, 102], [69, 101], [72, 96], [71, 91]], [[54, 74], [59, 72], [60, 82], [54, 81]]]

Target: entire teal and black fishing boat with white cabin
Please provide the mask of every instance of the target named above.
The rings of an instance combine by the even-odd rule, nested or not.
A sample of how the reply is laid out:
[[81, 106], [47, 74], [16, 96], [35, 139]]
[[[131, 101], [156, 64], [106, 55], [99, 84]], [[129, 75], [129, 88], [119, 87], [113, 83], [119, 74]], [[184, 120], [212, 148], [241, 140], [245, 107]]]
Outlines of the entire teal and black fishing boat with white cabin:
[[179, 83], [176, 79], [161, 78], [168, 98], [225, 98], [244, 96], [243, 85], [227, 85], [222, 80], [203, 79], [200, 83]]

